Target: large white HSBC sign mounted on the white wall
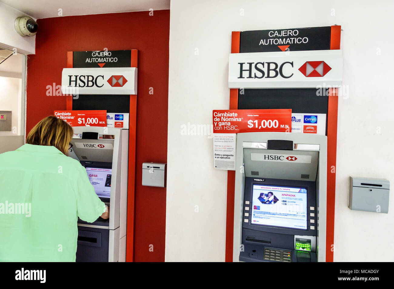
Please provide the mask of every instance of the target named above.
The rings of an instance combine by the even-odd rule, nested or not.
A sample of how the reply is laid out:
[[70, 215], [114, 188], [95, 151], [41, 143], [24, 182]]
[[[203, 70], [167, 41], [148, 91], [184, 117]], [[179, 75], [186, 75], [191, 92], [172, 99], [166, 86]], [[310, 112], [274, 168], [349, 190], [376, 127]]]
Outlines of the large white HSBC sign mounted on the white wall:
[[229, 88], [316, 88], [342, 84], [342, 50], [231, 53]]

